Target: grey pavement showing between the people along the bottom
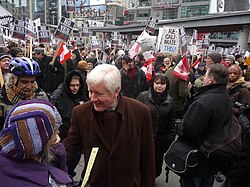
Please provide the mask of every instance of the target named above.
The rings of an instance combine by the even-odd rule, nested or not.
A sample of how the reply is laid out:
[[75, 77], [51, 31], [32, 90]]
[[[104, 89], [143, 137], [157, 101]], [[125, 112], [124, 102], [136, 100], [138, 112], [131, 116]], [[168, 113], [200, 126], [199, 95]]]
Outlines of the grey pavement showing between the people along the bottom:
[[[78, 181], [80, 179], [80, 174], [81, 174], [83, 167], [84, 167], [83, 166], [83, 157], [81, 157], [81, 160], [75, 169], [75, 171], [77, 173], [77, 175], [74, 177], [75, 181]], [[165, 176], [164, 168], [165, 168], [165, 165], [163, 165], [161, 176], [155, 180], [155, 187], [179, 187], [180, 186], [179, 176], [177, 176], [176, 174], [174, 174], [171, 171], [169, 173], [168, 183], [165, 182], [166, 176]], [[215, 181], [213, 187], [220, 187], [220, 185], [221, 185], [220, 183]]]

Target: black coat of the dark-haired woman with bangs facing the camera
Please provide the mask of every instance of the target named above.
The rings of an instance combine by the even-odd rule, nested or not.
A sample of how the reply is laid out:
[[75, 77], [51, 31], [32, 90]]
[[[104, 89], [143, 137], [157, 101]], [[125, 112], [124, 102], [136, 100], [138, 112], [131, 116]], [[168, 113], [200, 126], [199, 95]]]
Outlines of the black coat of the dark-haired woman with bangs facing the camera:
[[156, 177], [161, 175], [163, 156], [176, 136], [174, 109], [170, 96], [166, 94], [166, 99], [161, 104], [156, 104], [152, 96], [153, 88], [149, 91], [141, 92], [137, 100], [146, 104], [151, 111], [154, 143], [155, 143], [155, 166]]

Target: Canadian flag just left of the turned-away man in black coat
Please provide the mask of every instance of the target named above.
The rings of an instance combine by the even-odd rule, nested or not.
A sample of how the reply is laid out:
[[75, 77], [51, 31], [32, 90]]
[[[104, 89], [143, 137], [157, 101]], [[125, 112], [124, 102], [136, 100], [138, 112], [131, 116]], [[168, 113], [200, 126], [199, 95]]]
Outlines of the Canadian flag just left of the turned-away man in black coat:
[[175, 77], [178, 77], [186, 81], [188, 79], [189, 73], [190, 73], [190, 67], [188, 64], [187, 56], [185, 55], [174, 68], [173, 75]]

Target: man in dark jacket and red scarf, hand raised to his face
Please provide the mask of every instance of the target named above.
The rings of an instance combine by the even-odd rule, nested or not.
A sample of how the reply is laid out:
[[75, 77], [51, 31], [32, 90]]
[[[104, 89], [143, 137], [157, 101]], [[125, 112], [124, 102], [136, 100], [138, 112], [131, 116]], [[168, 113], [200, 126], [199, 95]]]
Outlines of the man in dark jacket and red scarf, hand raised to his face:
[[120, 73], [122, 95], [135, 99], [139, 93], [148, 90], [149, 86], [145, 73], [135, 66], [134, 61], [128, 55], [123, 57], [123, 68]]

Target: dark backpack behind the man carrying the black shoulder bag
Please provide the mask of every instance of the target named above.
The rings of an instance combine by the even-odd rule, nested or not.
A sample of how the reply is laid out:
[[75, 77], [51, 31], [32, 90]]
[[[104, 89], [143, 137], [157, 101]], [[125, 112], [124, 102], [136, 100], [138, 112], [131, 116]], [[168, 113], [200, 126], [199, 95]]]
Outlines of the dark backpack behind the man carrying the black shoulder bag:
[[200, 146], [200, 151], [206, 158], [216, 160], [229, 160], [240, 150], [241, 126], [233, 114], [223, 128], [209, 136]]

